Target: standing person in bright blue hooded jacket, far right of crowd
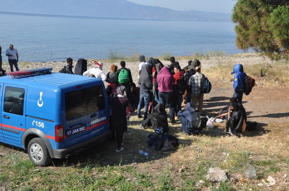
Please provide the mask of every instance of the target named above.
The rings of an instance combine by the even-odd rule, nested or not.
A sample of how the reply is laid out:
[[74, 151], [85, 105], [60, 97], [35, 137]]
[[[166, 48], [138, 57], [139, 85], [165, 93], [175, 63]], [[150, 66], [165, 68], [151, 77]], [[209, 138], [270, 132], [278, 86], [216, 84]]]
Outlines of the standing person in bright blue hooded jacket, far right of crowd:
[[235, 92], [233, 94], [233, 97], [237, 98], [239, 104], [242, 104], [243, 88], [244, 88], [244, 82], [245, 82], [245, 73], [244, 73], [243, 65], [236, 64], [231, 74], [235, 74], [234, 84], [233, 84]]

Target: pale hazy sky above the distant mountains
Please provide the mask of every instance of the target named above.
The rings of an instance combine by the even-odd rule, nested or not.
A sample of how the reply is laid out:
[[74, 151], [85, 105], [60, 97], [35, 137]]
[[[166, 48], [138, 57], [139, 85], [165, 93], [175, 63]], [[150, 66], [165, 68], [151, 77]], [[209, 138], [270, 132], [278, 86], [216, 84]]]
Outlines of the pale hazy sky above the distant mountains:
[[233, 0], [127, 0], [141, 5], [166, 7], [176, 11], [206, 11], [231, 13], [236, 1]]

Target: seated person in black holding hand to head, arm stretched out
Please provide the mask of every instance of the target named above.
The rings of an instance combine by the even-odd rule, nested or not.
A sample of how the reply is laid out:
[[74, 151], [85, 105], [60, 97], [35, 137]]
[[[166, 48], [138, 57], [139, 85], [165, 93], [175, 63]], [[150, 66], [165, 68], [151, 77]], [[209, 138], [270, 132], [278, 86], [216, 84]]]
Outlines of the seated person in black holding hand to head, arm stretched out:
[[240, 133], [242, 133], [244, 117], [242, 112], [239, 110], [239, 104], [232, 103], [231, 106], [229, 106], [228, 112], [216, 116], [214, 118], [214, 121], [216, 121], [216, 118], [224, 117], [226, 115], [228, 116], [228, 120], [226, 123], [226, 132], [229, 132], [229, 128], [231, 128], [231, 133], [240, 137]]

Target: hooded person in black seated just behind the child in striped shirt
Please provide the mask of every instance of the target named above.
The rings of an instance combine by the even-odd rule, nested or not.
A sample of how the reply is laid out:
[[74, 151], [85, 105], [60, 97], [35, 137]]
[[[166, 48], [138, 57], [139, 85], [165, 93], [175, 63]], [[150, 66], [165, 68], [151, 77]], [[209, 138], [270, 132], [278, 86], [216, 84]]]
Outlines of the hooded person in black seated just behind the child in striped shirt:
[[160, 120], [160, 123], [164, 129], [165, 133], [168, 133], [168, 114], [162, 107], [162, 104], [157, 104], [153, 108], [153, 114], [147, 114], [147, 119], [142, 121], [142, 125], [139, 125], [139, 128], [144, 128], [144, 127], [155, 127], [155, 121], [157, 119]]

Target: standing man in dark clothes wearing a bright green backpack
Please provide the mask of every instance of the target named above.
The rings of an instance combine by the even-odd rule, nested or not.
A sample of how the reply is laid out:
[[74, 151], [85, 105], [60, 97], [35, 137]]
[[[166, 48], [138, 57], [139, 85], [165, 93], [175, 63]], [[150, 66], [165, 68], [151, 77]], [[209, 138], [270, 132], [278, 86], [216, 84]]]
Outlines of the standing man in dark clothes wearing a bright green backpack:
[[131, 101], [133, 104], [138, 104], [138, 100], [134, 98], [134, 96], [131, 95], [131, 86], [133, 83], [132, 77], [131, 77], [131, 71], [128, 68], [125, 68], [125, 61], [121, 61], [121, 68], [119, 68], [116, 71], [115, 80], [118, 82], [120, 86], [125, 87], [125, 93], [127, 95], [127, 98]]

